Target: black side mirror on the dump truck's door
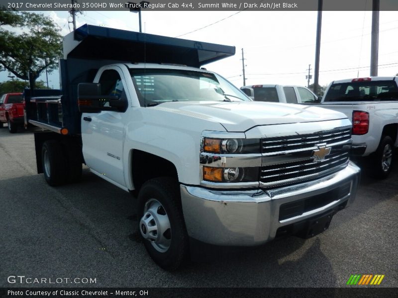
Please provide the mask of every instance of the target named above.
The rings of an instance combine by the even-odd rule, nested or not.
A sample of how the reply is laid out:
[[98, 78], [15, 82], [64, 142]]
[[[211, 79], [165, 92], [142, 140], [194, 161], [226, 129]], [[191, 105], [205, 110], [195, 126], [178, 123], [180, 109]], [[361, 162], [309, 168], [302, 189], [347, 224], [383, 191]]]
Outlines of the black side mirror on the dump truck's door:
[[120, 99], [120, 96], [101, 95], [100, 83], [79, 83], [78, 104], [81, 113], [124, 112], [127, 109], [127, 100]]

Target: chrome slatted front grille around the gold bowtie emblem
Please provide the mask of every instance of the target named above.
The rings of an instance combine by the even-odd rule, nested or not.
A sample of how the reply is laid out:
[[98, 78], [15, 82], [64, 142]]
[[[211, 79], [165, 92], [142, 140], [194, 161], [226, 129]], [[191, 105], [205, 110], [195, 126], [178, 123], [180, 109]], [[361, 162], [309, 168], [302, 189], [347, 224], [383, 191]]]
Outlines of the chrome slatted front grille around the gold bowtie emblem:
[[[351, 148], [350, 129], [262, 140], [262, 187], [294, 184], [336, 172], [348, 164]], [[322, 145], [330, 148], [324, 158], [313, 157]]]

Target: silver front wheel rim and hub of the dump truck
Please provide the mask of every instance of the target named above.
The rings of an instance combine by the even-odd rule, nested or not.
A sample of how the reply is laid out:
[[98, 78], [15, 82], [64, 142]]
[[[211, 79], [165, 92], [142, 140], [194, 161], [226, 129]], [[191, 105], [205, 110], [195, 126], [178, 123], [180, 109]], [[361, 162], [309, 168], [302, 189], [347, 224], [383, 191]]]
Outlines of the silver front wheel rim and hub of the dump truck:
[[166, 210], [156, 199], [150, 199], [139, 224], [141, 235], [159, 252], [166, 252], [171, 244], [171, 228]]

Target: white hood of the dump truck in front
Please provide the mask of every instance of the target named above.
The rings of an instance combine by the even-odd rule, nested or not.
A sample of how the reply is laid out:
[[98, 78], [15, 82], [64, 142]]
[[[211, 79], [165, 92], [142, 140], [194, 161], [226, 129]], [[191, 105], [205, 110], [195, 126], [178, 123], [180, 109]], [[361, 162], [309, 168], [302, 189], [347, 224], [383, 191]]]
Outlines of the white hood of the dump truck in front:
[[347, 118], [344, 114], [307, 105], [258, 101], [165, 102], [154, 109], [218, 122], [228, 132], [245, 132], [255, 126], [316, 122]]

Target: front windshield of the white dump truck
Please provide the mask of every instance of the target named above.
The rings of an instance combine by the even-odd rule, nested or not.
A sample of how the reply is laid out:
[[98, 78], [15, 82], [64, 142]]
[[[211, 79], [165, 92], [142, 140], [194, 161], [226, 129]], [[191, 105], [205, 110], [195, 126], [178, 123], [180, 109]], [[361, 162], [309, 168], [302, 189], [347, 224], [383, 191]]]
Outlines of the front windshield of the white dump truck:
[[142, 106], [169, 101], [250, 101], [223, 77], [170, 69], [130, 69]]

